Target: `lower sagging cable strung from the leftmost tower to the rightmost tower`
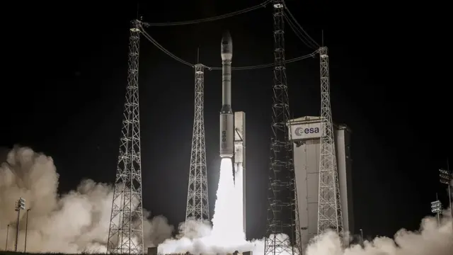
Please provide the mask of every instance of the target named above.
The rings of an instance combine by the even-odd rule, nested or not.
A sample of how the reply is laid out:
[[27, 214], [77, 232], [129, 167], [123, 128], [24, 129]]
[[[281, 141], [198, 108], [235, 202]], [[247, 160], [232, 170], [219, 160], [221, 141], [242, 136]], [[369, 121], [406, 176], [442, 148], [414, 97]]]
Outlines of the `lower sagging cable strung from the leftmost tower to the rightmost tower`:
[[[139, 29], [140, 33], [142, 33], [142, 35], [144, 35], [144, 37], [147, 38], [147, 40], [149, 40], [149, 42], [151, 42], [154, 46], [156, 46], [159, 50], [164, 52], [166, 55], [168, 55], [171, 58], [173, 58], [173, 60], [176, 60], [176, 61], [180, 62], [181, 64], [185, 64], [185, 65], [187, 65], [189, 67], [195, 67], [195, 64], [192, 64], [192, 63], [190, 63], [188, 61], [185, 61], [185, 60], [181, 59], [180, 57], [174, 55], [169, 50], [167, 50], [164, 46], [159, 44], [159, 42], [157, 42], [154, 38], [151, 37], [151, 35], [149, 35], [149, 33], [147, 33], [147, 31], [144, 30], [144, 28], [143, 28], [143, 26], [141, 24], [139, 25], [139, 28], [140, 28]], [[306, 58], [314, 57], [317, 52], [318, 51], [316, 50], [316, 51], [311, 52], [310, 54], [307, 54], [307, 55], [303, 55], [303, 56], [300, 56], [300, 57], [294, 57], [294, 58], [292, 58], [290, 60], [285, 60], [284, 63], [288, 64], [288, 63], [292, 63], [292, 62], [297, 62], [299, 60], [305, 60]], [[222, 67], [208, 67], [207, 65], [204, 65], [204, 66], [208, 70], [222, 70]], [[246, 67], [231, 67], [231, 69], [239, 71], [239, 70], [260, 69], [260, 68], [273, 67], [273, 66], [275, 66], [275, 63], [258, 64], [258, 65], [246, 66]]]

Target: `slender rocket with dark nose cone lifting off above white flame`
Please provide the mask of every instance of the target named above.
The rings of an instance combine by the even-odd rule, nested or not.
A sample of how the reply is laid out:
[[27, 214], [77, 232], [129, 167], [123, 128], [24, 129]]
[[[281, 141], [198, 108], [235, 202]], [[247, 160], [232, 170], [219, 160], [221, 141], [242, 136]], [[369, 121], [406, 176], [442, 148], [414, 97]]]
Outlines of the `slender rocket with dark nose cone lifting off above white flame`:
[[220, 110], [220, 157], [234, 156], [234, 113], [231, 109], [231, 59], [233, 41], [225, 32], [222, 36], [222, 109]]

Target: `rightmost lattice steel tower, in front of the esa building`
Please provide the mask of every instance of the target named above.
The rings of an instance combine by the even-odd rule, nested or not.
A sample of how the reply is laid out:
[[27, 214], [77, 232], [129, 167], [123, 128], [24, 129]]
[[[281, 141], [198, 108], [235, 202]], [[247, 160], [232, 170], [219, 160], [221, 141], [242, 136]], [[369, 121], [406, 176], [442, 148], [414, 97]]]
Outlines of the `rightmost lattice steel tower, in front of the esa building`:
[[321, 153], [319, 160], [318, 234], [333, 229], [343, 236], [340, 186], [331, 113], [327, 47], [319, 48], [321, 66]]

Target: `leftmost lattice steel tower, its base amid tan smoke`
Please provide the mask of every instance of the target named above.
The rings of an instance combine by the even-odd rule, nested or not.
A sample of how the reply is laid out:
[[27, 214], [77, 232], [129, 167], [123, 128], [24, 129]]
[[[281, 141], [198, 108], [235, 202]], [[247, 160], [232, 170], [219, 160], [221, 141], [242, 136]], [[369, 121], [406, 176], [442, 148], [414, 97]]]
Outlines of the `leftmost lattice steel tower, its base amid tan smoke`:
[[140, 160], [139, 43], [141, 22], [131, 21], [129, 69], [120, 152], [108, 231], [110, 254], [143, 254], [142, 166]]

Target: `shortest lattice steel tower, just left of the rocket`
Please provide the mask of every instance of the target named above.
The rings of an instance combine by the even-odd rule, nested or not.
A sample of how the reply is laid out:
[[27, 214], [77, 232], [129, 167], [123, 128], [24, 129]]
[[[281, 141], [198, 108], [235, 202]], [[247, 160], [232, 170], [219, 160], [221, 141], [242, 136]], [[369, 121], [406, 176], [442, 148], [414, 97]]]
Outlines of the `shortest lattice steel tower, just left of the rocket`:
[[205, 147], [205, 66], [195, 64], [195, 113], [185, 220], [210, 220]]

